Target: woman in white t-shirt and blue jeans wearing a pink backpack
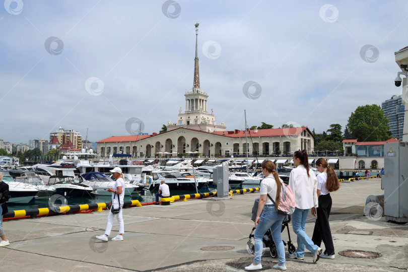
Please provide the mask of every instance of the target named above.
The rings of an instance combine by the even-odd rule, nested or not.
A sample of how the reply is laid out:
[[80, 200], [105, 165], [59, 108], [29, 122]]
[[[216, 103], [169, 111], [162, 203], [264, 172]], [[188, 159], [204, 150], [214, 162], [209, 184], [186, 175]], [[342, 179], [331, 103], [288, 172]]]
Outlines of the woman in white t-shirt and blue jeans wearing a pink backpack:
[[[279, 178], [275, 164], [271, 161], [263, 161], [262, 174], [265, 176], [260, 184], [260, 197], [258, 204], [258, 212], [255, 219], [255, 256], [253, 263], [246, 266], [246, 270], [258, 270], [262, 268], [261, 255], [263, 249], [262, 237], [268, 229], [272, 234], [277, 251], [279, 262], [274, 265], [274, 268], [286, 270], [285, 265], [285, 247], [281, 238], [282, 222], [284, 215], [278, 214], [278, 205], [281, 196], [282, 180]], [[275, 199], [275, 205], [269, 197]]]

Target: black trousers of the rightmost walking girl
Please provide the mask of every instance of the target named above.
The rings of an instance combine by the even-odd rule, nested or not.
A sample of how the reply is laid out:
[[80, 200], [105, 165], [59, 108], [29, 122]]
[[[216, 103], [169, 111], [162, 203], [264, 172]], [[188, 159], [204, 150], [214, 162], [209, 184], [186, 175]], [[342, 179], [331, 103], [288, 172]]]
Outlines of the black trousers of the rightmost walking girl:
[[331, 238], [330, 226], [328, 223], [328, 217], [331, 210], [331, 196], [330, 194], [319, 196], [319, 207], [317, 210], [317, 219], [314, 225], [314, 231], [312, 241], [315, 245], [320, 247], [321, 241], [323, 241], [326, 250], [324, 253], [327, 255], [334, 254], [333, 239]]

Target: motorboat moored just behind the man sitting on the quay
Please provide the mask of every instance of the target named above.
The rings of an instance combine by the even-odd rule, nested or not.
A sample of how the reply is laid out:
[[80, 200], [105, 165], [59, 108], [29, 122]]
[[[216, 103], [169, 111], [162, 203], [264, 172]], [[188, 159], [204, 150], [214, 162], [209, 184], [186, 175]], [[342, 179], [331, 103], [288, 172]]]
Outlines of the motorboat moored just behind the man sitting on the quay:
[[195, 191], [195, 187], [200, 189], [204, 185], [211, 185], [212, 180], [209, 179], [195, 179], [194, 177], [184, 177], [177, 171], [153, 171], [153, 181], [149, 184], [148, 189], [154, 190], [159, 188], [161, 181], [164, 180], [171, 190], [191, 190]]

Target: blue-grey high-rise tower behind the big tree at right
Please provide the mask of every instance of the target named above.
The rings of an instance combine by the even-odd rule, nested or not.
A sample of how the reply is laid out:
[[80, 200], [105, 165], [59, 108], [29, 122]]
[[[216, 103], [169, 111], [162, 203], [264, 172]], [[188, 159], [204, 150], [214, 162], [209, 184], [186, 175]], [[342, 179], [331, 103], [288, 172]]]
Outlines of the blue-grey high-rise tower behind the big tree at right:
[[404, 101], [402, 96], [393, 95], [391, 99], [381, 103], [384, 115], [388, 117], [388, 125], [392, 135], [402, 141], [402, 130], [404, 125]]

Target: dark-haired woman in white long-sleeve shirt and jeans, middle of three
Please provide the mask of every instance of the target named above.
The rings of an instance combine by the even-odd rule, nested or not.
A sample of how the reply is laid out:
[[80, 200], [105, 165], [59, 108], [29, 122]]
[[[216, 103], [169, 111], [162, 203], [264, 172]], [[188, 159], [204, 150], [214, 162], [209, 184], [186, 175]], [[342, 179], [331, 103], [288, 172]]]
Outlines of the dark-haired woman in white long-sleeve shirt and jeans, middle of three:
[[[305, 247], [313, 254], [313, 262], [316, 262], [322, 249], [315, 245], [305, 232], [307, 214], [310, 208], [317, 208], [317, 178], [309, 168], [307, 151], [296, 151], [293, 154], [293, 162], [296, 166], [289, 176], [289, 187], [293, 190], [296, 201], [295, 212], [292, 214], [293, 231], [297, 235], [298, 247], [295, 252], [289, 254], [292, 259], [304, 259]], [[312, 213], [313, 215], [313, 213]]]

